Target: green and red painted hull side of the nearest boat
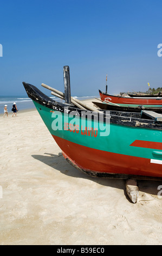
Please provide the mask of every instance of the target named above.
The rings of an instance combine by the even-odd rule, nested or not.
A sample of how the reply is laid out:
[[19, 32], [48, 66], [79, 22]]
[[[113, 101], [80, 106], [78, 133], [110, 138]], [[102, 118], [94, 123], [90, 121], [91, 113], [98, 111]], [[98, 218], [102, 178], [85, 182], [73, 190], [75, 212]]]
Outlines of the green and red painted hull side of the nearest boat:
[[[99, 130], [97, 135], [96, 132], [88, 135], [82, 127], [70, 129], [67, 114], [56, 111], [63, 126], [62, 130], [54, 131], [55, 111], [34, 103], [63, 156], [75, 167], [94, 176], [162, 177], [161, 130], [109, 123], [108, 136], [100, 136]], [[90, 125], [94, 126], [87, 124], [87, 129]]]

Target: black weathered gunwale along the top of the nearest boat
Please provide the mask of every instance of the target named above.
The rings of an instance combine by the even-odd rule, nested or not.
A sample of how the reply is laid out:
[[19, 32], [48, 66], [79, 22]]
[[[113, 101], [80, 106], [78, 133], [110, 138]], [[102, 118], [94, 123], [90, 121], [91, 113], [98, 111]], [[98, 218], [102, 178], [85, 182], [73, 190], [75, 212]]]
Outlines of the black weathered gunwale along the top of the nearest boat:
[[[37, 87], [33, 86], [32, 84], [23, 82], [23, 86], [30, 97], [31, 100], [34, 100], [37, 103], [40, 103], [42, 106], [46, 106], [50, 109], [55, 109], [56, 111], [64, 112], [64, 107], [68, 107], [69, 112], [77, 111], [81, 117], [83, 112], [87, 112], [87, 110], [81, 109], [76, 107], [75, 105], [58, 102], [51, 99], [46, 94], [42, 93]], [[100, 90], [99, 90], [100, 91]], [[59, 108], [59, 109], [57, 109]], [[109, 112], [109, 114], [107, 113]], [[116, 113], [113, 113], [116, 112]], [[95, 115], [99, 118], [99, 112], [92, 112], [88, 111], [88, 113]], [[123, 112], [123, 111], [101, 111], [103, 113], [103, 122], [105, 118], [109, 118], [109, 123], [116, 124], [116, 125], [124, 125], [124, 126], [132, 126], [132, 127], [143, 127], [147, 129], [155, 129], [155, 130], [162, 130], [161, 124], [154, 123], [152, 119], [144, 119], [144, 118], [135, 118], [133, 116], [133, 112]], [[140, 114], [140, 113], [134, 113]], [[88, 116], [86, 116], [88, 118]]]

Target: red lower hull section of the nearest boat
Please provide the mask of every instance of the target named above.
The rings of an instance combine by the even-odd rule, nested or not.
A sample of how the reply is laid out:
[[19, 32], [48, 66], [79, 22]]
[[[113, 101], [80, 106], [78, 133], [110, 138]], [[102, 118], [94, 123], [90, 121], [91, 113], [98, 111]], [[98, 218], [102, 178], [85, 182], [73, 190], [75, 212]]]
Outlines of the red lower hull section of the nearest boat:
[[53, 137], [64, 157], [86, 172], [162, 177], [161, 164], [151, 163], [150, 159], [110, 153]]

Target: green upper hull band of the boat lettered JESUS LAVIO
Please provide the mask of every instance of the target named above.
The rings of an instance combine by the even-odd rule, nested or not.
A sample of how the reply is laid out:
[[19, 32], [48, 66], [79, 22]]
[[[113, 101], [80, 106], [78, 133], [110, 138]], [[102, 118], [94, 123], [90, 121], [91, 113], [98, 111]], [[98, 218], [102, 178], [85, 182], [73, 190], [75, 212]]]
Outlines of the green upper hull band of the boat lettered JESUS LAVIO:
[[[153, 149], [148, 148], [137, 148], [130, 146], [135, 140], [150, 141], [150, 142], [161, 142], [162, 143], [162, 131], [146, 129], [140, 127], [131, 127], [116, 124], [107, 124], [109, 126], [108, 136], [100, 136], [100, 130], [98, 130], [98, 136], [88, 136], [88, 132], [85, 133], [84, 127], [80, 127], [78, 133], [70, 131], [70, 129], [64, 130], [64, 123], [70, 123], [73, 118], [69, 118], [67, 114], [61, 113], [59, 111], [51, 113], [50, 109], [41, 106], [39, 103], [34, 102], [37, 111], [40, 113], [44, 123], [46, 124], [51, 135], [67, 139], [68, 141], [83, 145], [85, 147], [94, 148], [98, 150], [108, 151], [116, 154], [123, 154], [136, 157], [144, 157], [147, 159], [156, 159], [153, 155]], [[41, 108], [41, 110], [40, 110]], [[52, 109], [51, 109], [52, 110]], [[77, 120], [76, 120], [77, 119]], [[53, 126], [55, 125], [55, 120], [60, 122], [61, 129], [54, 131]], [[75, 118], [76, 123], [81, 124], [81, 118]], [[58, 126], [58, 124], [56, 124]], [[98, 124], [94, 124], [94, 121], [87, 121], [87, 127], [96, 127]], [[85, 133], [85, 135], [83, 134]], [[102, 131], [101, 131], [102, 134]], [[95, 133], [96, 135], [96, 133]], [[162, 160], [162, 154], [159, 156]]]

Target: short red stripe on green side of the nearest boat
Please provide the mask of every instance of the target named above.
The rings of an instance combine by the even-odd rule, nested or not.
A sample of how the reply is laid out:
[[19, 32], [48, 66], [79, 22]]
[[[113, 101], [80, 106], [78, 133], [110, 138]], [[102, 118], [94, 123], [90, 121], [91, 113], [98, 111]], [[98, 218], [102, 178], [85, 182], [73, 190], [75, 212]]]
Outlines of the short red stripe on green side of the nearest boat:
[[134, 141], [130, 146], [139, 147], [139, 148], [162, 150], [162, 143], [161, 142], [139, 141], [138, 139], [136, 141]]

